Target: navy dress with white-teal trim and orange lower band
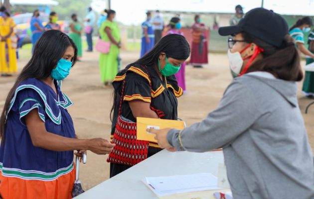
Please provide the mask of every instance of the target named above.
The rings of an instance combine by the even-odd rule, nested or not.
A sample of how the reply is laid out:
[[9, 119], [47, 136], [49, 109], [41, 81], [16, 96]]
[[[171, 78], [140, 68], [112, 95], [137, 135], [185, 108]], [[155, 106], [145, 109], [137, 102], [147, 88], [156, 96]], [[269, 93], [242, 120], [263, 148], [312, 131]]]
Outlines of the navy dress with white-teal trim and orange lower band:
[[67, 111], [71, 100], [55, 82], [57, 94], [37, 79], [23, 81], [7, 113], [4, 141], [0, 145], [0, 194], [4, 199], [70, 199], [75, 169], [73, 151], [50, 151], [32, 144], [24, 116], [37, 109], [46, 130], [74, 138]]

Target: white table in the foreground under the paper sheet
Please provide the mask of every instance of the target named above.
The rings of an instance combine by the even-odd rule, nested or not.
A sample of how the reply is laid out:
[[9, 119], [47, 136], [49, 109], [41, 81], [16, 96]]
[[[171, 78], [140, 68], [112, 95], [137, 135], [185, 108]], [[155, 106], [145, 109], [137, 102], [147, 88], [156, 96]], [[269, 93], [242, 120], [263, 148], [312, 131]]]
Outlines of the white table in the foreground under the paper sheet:
[[[208, 172], [217, 176], [218, 164], [223, 163], [223, 161], [222, 151], [206, 153], [180, 151], [173, 153], [162, 150], [147, 160], [88, 190], [75, 199], [157, 199], [157, 196], [142, 182], [144, 177], [189, 175]], [[213, 192], [179, 194], [177, 196], [162, 197], [162, 199], [214, 199]]]

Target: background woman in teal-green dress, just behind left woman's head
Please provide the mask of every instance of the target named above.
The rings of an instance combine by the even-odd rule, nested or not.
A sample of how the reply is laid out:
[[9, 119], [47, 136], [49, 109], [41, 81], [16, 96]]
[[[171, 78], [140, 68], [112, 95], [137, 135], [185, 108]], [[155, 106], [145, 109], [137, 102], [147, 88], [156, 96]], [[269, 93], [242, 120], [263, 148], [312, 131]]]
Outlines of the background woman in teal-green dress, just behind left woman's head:
[[82, 31], [82, 25], [77, 20], [77, 15], [72, 14], [71, 16], [72, 22], [70, 23], [70, 38], [74, 41], [76, 47], [77, 47], [77, 58], [78, 61], [79, 58], [82, 57], [82, 38], [81, 38], [81, 31]]

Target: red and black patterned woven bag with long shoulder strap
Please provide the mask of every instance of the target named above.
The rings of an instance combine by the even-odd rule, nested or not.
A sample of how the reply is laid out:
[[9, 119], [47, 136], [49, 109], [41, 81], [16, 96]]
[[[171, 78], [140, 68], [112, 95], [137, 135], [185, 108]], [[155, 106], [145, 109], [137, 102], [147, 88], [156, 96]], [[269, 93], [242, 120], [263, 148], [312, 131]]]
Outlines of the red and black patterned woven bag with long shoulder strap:
[[[149, 79], [151, 79], [149, 73], [147, 74]], [[111, 141], [112, 143], [116, 144], [116, 146], [109, 154], [107, 162], [133, 166], [147, 159], [150, 142], [137, 140], [136, 122], [126, 121], [122, 118], [122, 103], [125, 84], [126, 81], [124, 80], [122, 84], [118, 120], [116, 123], [113, 139]], [[152, 90], [151, 81], [150, 88]]]

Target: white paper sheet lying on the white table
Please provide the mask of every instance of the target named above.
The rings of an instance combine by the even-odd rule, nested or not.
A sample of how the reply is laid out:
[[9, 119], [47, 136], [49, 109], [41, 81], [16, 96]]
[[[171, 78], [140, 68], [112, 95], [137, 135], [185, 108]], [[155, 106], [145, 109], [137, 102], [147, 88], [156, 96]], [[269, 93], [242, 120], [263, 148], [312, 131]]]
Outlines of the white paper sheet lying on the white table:
[[217, 177], [211, 173], [146, 177], [143, 182], [157, 196], [221, 189], [217, 187]]

